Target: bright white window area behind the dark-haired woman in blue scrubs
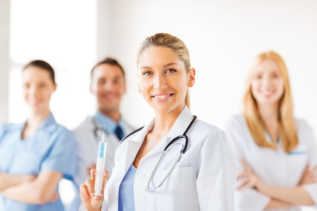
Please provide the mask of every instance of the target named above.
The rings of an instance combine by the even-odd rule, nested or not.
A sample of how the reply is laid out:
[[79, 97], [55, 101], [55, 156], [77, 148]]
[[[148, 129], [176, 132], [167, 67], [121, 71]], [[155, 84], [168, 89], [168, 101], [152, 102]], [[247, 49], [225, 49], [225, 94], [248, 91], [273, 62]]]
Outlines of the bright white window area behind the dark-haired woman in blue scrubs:
[[97, 55], [97, 2], [76, 0], [11, 0], [9, 120], [25, 120], [21, 69], [33, 59], [49, 62], [56, 72], [57, 91], [51, 110], [56, 120], [73, 128], [95, 101], [89, 74]]

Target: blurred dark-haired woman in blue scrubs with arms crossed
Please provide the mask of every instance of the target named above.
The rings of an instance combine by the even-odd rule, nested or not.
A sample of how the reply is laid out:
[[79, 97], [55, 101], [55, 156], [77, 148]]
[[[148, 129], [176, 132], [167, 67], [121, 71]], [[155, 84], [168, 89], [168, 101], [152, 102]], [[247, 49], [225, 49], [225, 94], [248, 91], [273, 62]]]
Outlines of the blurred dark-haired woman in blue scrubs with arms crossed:
[[0, 125], [0, 210], [64, 210], [58, 183], [75, 174], [75, 141], [50, 111], [56, 86], [47, 62], [35, 60], [24, 67], [29, 117], [20, 124]]

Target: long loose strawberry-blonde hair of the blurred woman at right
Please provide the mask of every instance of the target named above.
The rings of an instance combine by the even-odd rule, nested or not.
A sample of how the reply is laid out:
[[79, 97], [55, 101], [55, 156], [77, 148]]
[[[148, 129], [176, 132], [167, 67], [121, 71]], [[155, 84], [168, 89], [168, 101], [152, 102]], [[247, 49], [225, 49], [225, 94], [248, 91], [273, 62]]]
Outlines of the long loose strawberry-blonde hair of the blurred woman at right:
[[276, 65], [278, 65], [281, 76], [284, 79], [284, 94], [279, 103], [278, 124], [282, 146], [286, 152], [290, 152], [298, 145], [298, 137], [295, 129], [295, 119], [293, 116], [293, 101], [289, 75], [286, 65], [279, 54], [275, 52], [264, 52], [255, 57], [249, 70], [246, 82], [244, 115], [249, 131], [255, 142], [261, 147], [275, 149], [276, 143], [270, 142], [265, 138], [264, 128], [257, 109], [257, 103], [251, 92], [251, 82], [254, 77], [254, 70], [262, 61], [267, 59], [274, 61]]

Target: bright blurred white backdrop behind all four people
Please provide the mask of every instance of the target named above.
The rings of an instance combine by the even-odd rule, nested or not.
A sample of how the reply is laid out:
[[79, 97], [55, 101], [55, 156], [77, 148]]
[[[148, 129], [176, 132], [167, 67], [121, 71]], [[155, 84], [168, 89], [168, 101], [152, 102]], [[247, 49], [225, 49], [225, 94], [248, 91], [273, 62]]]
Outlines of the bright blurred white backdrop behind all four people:
[[[136, 52], [156, 32], [178, 36], [190, 52], [196, 83], [191, 111], [223, 127], [241, 112], [252, 59], [275, 51], [285, 60], [295, 115], [317, 131], [317, 1], [315, 0], [0, 0], [0, 122], [24, 121], [21, 68], [42, 59], [56, 71], [51, 110], [73, 129], [95, 111], [90, 70], [106, 56], [122, 63], [124, 118], [135, 127], [153, 117], [137, 92]], [[65, 203], [72, 198], [61, 185]]]

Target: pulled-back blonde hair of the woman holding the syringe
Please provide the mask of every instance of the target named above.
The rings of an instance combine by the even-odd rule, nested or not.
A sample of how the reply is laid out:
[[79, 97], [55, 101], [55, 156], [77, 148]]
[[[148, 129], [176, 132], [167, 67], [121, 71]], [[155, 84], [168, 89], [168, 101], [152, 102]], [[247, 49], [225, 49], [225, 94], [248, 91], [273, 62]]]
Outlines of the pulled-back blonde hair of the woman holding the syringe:
[[[180, 60], [182, 60], [185, 64], [185, 69], [187, 72], [189, 72], [190, 69], [190, 59], [189, 59], [189, 52], [186, 47], [186, 45], [183, 43], [183, 41], [171, 34], [168, 33], [156, 33], [153, 36], [146, 37], [138, 52], [137, 52], [137, 65], [139, 66], [139, 59], [141, 54], [149, 47], [166, 47], [169, 49], [172, 49], [176, 55], [179, 57]], [[187, 93], [185, 97], [185, 105], [190, 108], [189, 103], [189, 89], [187, 88]]]

